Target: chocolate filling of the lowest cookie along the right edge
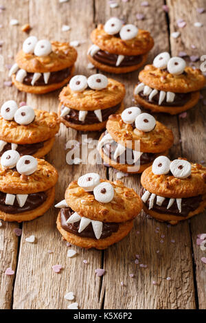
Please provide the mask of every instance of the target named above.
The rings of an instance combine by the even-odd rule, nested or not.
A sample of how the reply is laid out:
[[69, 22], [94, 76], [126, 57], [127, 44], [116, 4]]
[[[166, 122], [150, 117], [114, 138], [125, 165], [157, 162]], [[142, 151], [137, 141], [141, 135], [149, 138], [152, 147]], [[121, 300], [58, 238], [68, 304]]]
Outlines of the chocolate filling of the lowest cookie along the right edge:
[[[141, 197], [144, 194], [144, 192], [146, 192], [145, 188], [141, 188], [141, 193], [140, 193]], [[172, 214], [172, 215], [176, 215], [176, 216], [185, 216], [186, 217], [190, 212], [193, 212], [194, 210], [196, 210], [198, 208], [202, 199], [203, 199], [203, 195], [198, 195], [197, 197], [183, 198], [182, 202], [181, 202], [182, 210], [180, 213], [177, 208], [176, 201], [174, 201], [172, 206], [170, 206], [170, 208], [167, 210], [168, 203], [169, 203], [170, 199], [168, 197], [166, 197], [165, 200], [163, 201], [162, 205], [160, 206], [160, 205], [157, 205], [157, 203], [156, 203], [157, 197], [155, 197], [155, 201], [154, 201], [154, 205], [153, 205], [152, 210], [155, 212], [158, 212], [158, 213], [165, 213], [165, 214]], [[145, 203], [147, 208], [149, 208], [149, 203], [150, 203], [150, 198]]]

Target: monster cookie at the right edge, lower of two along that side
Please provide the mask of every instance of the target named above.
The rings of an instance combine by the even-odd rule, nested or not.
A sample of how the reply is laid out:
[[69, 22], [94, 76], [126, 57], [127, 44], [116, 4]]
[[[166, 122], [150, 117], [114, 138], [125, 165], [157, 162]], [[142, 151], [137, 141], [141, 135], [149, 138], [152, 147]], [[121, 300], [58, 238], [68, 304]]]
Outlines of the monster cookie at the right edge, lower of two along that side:
[[206, 168], [185, 159], [159, 156], [141, 175], [144, 210], [159, 221], [176, 224], [206, 207]]

